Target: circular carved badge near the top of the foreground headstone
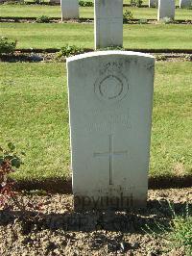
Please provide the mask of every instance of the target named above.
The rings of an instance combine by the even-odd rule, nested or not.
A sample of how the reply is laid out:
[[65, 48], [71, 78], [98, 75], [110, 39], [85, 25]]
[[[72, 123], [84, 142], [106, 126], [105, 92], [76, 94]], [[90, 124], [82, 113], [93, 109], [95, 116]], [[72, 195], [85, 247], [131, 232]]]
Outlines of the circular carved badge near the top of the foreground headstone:
[[97, 96], [109, 103], [122, 100], [128, 93], [128, 89], [126, 77], [115, 72], [101, 76], [95, 83]]

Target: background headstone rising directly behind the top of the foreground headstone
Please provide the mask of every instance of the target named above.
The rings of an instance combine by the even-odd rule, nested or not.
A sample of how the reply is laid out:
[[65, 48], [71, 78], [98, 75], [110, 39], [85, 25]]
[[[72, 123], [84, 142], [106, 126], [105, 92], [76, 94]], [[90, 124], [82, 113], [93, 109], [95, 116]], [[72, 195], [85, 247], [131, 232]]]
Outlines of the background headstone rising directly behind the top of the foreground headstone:
[[95, 49], [123, 45], [123, 0], [94, 0]]

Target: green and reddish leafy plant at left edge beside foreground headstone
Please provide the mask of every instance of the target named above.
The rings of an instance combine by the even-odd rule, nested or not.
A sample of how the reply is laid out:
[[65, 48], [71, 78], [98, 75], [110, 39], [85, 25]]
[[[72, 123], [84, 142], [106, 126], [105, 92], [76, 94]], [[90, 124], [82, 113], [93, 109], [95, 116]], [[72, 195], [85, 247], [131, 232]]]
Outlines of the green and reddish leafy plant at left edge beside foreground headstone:
[[7, 149], [0, 147], [0, 209], [4, 208], [14, 195], [13, 182], [8, 180], [8, 176], [15, 171], [14, 168], [21, 166], [20, 155], [25, 155], [24, 152], [19, 154], [12, 142], [9, 142], [7, 147]]

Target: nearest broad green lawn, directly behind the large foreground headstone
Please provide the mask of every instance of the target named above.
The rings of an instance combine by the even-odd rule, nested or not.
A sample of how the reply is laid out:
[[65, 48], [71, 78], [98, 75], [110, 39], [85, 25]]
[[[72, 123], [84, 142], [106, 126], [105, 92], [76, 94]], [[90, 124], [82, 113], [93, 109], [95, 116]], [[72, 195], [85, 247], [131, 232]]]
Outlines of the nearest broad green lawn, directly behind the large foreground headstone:
[[[156, 63], [151, 176], [192, 174], [192, 63]], [[65, 64], [0, 64], [1, 144], [26, 152], [17, 180], [69, 174]]]

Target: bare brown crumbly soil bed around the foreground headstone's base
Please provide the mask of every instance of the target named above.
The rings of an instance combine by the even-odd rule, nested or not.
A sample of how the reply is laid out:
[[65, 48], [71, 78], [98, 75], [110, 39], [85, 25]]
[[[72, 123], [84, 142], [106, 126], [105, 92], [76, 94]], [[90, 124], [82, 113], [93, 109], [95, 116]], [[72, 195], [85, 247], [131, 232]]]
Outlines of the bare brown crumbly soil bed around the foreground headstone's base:
[[187, 203], [191, 211], [192, 189], [150, 190], [147, 209], [136, 213], [77, 213], [71, 194], [17, 196], [25, 211], [13, 203], [0, 211], [0, 255], [186, 255], [146, 225], [160, 231], [158, 224], [169, 227], [172, 207], [180, 215]]

